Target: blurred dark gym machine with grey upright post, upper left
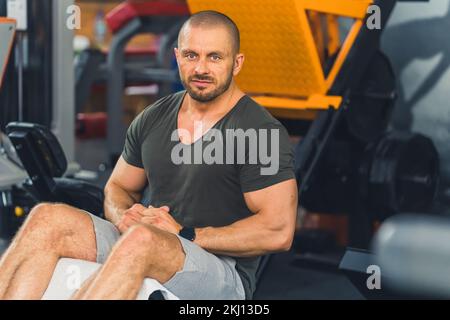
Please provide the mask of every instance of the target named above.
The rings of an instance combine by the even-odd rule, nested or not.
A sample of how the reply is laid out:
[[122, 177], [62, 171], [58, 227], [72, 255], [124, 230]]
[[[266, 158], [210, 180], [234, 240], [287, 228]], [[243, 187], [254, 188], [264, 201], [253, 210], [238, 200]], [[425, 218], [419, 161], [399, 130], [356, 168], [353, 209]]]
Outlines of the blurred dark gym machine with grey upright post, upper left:
[[[0, 92], [0, 130], [11, 121], [33, 122], [51, 128], [76, 171], [73, 31], [66, 26], [67, 8], [74, 0], [0, 0], [0, 17], [10, 3], [21, 3], [14, 12], [18, 24], [10, 61]], [[18, 9], [16, 8], [16, 11]]]

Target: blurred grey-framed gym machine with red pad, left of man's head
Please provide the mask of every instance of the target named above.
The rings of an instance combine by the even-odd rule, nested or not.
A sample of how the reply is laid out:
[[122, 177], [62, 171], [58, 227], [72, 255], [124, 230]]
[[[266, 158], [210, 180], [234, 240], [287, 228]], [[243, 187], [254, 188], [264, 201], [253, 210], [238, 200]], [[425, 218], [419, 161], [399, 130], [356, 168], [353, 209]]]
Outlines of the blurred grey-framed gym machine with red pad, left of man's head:
[[[125, 141], [124, 85], [158, 84], [159, 97], [174, 91], [179, 76], [173, 61], [173, 48], [178, 31], [188, 16], [188, 7], [183, 2], [125, 1], [106, 16], [106, 23], [113, 33], [108, 52], [95, 49], [81, 52], [76, 66], [76, 110], [82, 112], [92, 84], [106, 82], [106, 130], [111, 165], [118, 159]], [[158, 36], [156, 50], [128, 54], [126, 46], [130, 40], [146, 33]], [[86, 120], [79, 121], [80, 128], [88, 126], [89, 115], [84, 115], [83, 119]]]

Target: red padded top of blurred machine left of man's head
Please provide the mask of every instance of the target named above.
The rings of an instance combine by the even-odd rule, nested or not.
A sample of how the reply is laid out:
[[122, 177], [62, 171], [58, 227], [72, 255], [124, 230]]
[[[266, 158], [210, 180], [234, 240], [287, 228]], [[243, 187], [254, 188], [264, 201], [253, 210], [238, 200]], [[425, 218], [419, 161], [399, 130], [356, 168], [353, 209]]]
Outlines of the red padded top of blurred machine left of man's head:
[[120, 28], [136, 17], [148, 16], [187, 16], [189, 8], [184, 1], [127, 1], [109, 12], [106, 16], [106, 23], [112, 33], [116, 33]]

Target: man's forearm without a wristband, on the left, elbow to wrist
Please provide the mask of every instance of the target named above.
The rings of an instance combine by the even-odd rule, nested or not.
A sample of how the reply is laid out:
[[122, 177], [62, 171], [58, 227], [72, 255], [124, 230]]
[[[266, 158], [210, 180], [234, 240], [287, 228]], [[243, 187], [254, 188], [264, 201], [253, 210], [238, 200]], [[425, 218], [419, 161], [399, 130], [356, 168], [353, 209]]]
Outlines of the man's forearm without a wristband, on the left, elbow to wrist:
[[114, 225], [119, 223], [123, 213], [140, 201], [140, 193], [131, 193], [119, 185], [108, 183], [105, 187], [104, 210], [107, 220]]

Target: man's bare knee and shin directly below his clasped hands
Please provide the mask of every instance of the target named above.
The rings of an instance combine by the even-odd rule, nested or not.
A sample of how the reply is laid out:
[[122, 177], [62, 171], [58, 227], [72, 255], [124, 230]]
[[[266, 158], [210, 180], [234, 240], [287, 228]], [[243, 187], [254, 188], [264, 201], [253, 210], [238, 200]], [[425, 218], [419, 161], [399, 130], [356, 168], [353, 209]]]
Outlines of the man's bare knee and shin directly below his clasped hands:
[[136, 299], [145, 278], [167, 282], [184, 265], [179, 239], [154, 227], [136, 225], [113, 248], [81, 299]]

